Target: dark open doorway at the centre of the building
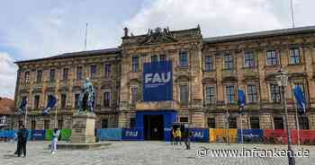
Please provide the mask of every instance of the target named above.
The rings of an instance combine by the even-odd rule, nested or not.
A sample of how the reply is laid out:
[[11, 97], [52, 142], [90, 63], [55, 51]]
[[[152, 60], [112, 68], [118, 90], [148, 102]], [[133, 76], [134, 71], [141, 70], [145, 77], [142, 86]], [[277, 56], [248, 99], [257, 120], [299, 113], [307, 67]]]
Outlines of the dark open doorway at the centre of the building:
[[163, 115], [145, 115], [143, 119], [144, 139], [163, 140], [164, 139]]

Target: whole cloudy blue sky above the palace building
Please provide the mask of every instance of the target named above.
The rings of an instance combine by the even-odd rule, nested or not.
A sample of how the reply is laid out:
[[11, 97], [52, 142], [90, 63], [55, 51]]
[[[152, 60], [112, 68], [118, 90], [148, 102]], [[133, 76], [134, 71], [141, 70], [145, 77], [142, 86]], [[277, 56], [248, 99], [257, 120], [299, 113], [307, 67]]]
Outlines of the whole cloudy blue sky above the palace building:
[[[293, 0], [295, 27], [315, 25], [314, 0]], [[14, 61], [120, 46], [123, 28], [195, 28], [202, 37], [292, 28], [290, 0], [4, 0], [0, 97], [14, 98]]]

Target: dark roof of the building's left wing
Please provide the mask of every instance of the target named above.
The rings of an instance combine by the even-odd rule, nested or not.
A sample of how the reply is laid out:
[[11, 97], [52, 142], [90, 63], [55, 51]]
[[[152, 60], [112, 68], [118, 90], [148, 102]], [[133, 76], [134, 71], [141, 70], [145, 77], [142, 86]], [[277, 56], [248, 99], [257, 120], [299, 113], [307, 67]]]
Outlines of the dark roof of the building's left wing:
[[121, 48], [105, 48], [105, 49], [97, 49], [97, 50], [70, 52], [70, 53], [64, 53], [57, 56], [49, 56], [49, 57], [36, 58], [36, 59], [30, 59], [30, 60], [16, 61], [15, 64], [37, 62], [37, 61], [51, 60], [51, 59], [63, 59], [63, 58], [80, 57], [80, 56], [98, 56], [98, 55], [108, 55], [108, 54], [117, 54], [117, 53], [121, 53]]

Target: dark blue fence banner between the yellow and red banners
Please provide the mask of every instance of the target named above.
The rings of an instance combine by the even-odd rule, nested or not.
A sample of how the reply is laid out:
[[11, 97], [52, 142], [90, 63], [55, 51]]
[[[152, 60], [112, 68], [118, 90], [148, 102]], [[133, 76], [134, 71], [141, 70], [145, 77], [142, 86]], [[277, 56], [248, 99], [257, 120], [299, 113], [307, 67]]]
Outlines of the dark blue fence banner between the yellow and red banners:
[[[258, 143], [263, 141], [263, 129], [243, 129], [243, 142], [244, 143]], [[241, 130], [238, 129], [238, 143], [241, 143]]]

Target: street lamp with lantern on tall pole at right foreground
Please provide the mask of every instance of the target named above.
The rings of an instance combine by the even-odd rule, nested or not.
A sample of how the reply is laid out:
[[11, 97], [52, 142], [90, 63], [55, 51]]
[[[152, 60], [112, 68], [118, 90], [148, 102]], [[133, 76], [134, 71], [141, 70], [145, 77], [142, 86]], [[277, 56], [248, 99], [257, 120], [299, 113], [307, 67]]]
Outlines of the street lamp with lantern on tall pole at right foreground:
[[286, 100], [285, 100], [285, 92], [286, 92], [286, 87], [288, 86], [288, 73], [284, 72], [283, 68], [280, 68], [278, 71], [278, 75], [275, 76], [277, 79], [277, 83], [280, 87], [281, 91], [281, 100], [283, 100], [284, 104], [284, 112], [285, 112], [285, 126], [286, 126], [286, 131], [288, 133], [288, 161], [289, 165], [295, 165], [295, 160], [293, 157], [293, 150], [292, 150], [292, 141], [291, 141], [291, 130], [289, 129], [288, 125], [288, 109], [286, 107]]

